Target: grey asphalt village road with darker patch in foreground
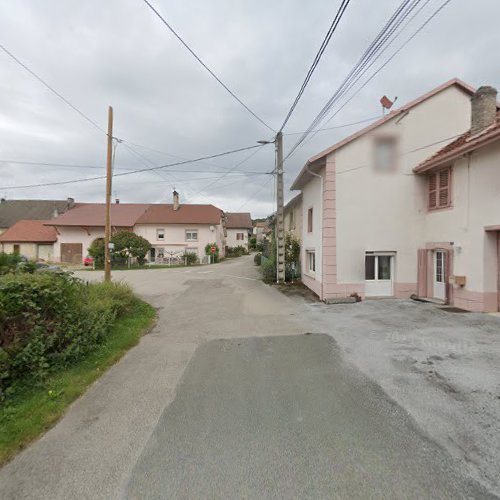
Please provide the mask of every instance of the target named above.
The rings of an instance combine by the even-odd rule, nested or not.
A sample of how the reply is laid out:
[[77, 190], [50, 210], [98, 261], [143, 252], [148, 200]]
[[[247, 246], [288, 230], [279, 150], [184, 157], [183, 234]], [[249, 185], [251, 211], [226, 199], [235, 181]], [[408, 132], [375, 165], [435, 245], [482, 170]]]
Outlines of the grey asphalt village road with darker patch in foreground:
[[2, 500], [491, 498], [251, 258], [115, 278], [158, 325], [0, 470]]

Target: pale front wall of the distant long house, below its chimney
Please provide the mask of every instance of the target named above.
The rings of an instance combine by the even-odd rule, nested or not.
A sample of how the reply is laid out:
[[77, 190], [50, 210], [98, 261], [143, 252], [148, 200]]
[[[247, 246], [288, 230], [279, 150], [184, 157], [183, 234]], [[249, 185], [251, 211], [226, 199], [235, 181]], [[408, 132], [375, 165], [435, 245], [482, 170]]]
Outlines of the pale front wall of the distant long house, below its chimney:
[[[213, 231], [210, 228], [213, 228]], [[157, 229], [165, 230], [165, 239], [158, 240]], [[197, 230], [198, 241], [186, 241], [186, 230]], [[219, 249], [224, 251], [225, 238], [221, 225], [184, 225], [184, 224], [136, 224], [134, 232], [146, 238], [154, 247], [162, 247], [167, 252], [184, 252], [186, 249], [196, 252], [199, 258], [205, 255], [205, 245], [217, 243]]]

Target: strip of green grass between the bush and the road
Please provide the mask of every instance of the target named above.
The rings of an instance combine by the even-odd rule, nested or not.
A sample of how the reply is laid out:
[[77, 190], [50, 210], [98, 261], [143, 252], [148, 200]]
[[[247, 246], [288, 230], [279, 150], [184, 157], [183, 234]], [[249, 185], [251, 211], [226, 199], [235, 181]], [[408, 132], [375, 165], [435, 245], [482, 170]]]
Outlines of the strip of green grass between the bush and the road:
[[52, 427], [92, 382], [139, 342], [155, 316], [153, 307], [135, 299], [95, 351], [52, 374], [44, 387], [19, 391], [0, 408], [0, 465]]

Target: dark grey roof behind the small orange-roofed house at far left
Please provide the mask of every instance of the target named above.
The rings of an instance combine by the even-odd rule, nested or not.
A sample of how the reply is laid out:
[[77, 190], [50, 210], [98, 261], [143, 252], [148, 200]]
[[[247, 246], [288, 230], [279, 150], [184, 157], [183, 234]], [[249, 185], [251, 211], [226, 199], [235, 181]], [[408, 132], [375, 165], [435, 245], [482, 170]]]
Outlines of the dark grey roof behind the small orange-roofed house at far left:
[[20, 220], [49, 220], [75, 207], [75, 200], [0, 200], [0, 234]]

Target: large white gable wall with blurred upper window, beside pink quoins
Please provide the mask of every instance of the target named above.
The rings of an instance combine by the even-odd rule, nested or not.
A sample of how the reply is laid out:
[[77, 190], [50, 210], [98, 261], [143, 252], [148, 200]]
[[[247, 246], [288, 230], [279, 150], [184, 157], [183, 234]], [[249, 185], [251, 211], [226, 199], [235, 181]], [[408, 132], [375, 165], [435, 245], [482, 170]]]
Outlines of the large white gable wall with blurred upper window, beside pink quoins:
[[[412, 169], [469, 125], [469, 96], [451, 87], [330, 155], [327, 161], [336, 165], [339, 291], [363, 295], [365, 252], [389, 251], [396, 252], [395, 295], [416, 292], [417, 249], [425, 241], [427, 207], [422, 204], [425, 179]], [[397, 138], [398, 161], [393, 171], [379, 172], [373, 168], [374, 139], [385, 135]]]

